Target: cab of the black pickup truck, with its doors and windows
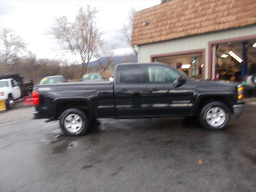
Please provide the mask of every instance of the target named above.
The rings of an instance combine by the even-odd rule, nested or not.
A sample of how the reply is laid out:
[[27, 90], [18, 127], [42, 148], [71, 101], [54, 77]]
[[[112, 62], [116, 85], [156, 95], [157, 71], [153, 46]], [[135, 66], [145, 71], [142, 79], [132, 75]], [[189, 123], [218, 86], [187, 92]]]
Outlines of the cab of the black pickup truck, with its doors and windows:
[[[189, 115], [194, 103], [194, 85], [177, 70], [163, 64], [130, 64], [116, 67], [116, 115], [156, 117]], [[178, 84], [178, 78], [184, 78]]]

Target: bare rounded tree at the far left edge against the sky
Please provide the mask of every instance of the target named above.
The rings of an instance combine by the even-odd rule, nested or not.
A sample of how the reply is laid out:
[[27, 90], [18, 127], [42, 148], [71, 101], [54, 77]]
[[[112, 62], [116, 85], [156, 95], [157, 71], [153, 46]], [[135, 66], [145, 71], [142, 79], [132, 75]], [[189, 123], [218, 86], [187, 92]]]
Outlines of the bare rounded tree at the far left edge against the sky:
[[13, 64], [15, 60], [26, 50], [26, 44], [13, 30], [3, 28], [1, 30], [1, 60], [4, 64]]

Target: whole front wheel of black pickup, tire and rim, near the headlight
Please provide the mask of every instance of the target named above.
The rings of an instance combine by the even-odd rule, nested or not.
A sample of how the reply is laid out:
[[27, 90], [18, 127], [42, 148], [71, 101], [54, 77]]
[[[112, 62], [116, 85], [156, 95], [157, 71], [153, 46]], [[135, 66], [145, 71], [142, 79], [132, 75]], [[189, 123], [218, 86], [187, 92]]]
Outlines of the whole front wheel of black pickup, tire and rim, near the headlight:
[[230, 109], [218, 101], [206, 104], [199, 115], [199, 121], [208, 130], [222, 130], [230, 120]]

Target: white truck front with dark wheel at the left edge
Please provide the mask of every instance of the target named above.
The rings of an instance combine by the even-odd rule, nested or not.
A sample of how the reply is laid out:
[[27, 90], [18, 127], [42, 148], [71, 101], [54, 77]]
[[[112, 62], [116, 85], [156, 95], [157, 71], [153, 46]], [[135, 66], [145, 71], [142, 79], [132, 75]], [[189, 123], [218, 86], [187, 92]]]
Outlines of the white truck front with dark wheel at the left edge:
[[14, 100], [21, 98], [20, 83], [15, 79], [0, 80], [0, 100], [4, 100], [7, 109], [12, 109]]

